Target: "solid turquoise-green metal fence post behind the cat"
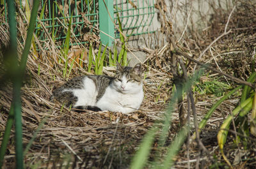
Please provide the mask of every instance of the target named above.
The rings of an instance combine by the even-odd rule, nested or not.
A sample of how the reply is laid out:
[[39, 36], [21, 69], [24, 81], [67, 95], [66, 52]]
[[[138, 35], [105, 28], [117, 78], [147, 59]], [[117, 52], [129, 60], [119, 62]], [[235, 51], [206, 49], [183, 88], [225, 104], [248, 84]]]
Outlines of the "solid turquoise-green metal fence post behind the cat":
[[115, 37], [112, 20], [114, 20], [113, 0], [99, 0], [100, 41], [103, 45], [108, 44], [109, 47], [113, 46], [113, 38]]

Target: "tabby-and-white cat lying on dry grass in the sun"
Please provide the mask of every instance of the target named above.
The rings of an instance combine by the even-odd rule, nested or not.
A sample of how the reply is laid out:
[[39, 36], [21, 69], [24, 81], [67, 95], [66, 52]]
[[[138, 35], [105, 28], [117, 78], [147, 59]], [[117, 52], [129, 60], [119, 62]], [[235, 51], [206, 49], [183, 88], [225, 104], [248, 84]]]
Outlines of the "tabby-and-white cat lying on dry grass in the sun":
[[140, 108], [143, 101], [143, 78], [141, 64], [133, 68], [116, 66], [114, 77], [86, 75], [72, 78], [52, 92], [51, 99], [76, 110], [109, 110], [124, 114]]

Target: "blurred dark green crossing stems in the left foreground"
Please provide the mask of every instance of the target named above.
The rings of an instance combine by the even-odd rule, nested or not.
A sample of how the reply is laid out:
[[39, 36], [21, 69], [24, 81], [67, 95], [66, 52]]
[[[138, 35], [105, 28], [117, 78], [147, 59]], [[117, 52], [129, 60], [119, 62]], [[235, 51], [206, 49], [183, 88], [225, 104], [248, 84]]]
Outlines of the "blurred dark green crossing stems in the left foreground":
[[13, 82], [13, 101], [12, 101], [12, 106], [10, 108], [8, 121], [6, 122], [3, 142], [1, 144], [1, 149], [0, 149], [0, 168], [3, 166], [4, 154], [6, 152], [8, 140], [10, 138], [10, 131], [12, 128], [13, 119], [15, 119], [16, 168], [23, 168], [20, 87], [22, 84], [22, 78], [24, 77], [29, 49], [31, 47], [33, 31], [35, 29], [36, 12], [38, 10], [38, 6], [40, 3], [40, 1], [34, 1], [34, 6], [31, 12], [31, 18], [29, 22], [26, 43], [25, 43], [24, 51], [21, 56], [20, 66], [18, 66], [17, 27], [16, 27], [16, 19], [15, 19], [15, 3], [14, 2], [15, 1], [12, 1], [12, 0], [7, 1], [8, 20], [9, 20], [9, 26], [10, 26], [10, 47], [8, 52], [6, 52], [6, 57], [8, 59], [7, 64], [12, 65], [10, 68], [8, 68], [9, 69], [8, 71], [10, 72], [10, 76]]

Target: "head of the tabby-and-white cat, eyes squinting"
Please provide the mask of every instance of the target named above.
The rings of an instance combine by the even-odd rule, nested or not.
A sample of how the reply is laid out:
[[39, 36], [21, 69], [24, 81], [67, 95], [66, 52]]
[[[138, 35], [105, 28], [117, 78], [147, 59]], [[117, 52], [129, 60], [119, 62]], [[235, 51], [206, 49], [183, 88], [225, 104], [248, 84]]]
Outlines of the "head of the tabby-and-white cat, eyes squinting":
[[140, 91], [143, 80], [141, 77], [142, 73], [140, 63], [136, 64], [133, 68], [117, 64], [115, 80], [113, 82], [116, 90], [125, 94]]

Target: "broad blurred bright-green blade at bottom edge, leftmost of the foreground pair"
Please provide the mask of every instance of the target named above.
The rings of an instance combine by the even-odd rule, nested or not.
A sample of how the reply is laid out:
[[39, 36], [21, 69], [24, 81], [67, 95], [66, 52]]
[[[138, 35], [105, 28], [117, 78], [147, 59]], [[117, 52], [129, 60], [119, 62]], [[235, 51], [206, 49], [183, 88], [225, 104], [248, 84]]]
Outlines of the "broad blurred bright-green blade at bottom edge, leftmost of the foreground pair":
[[156, 135], [158, 128], [151, 128], [144, 136], [141, 144], [140, 149], [136, 152], [134, 157], [132, 158], [131, 167], [132, 169], [140, 169], [145, 166], [147, 162], [149, 152], [152, 147], [152, 143], [154, 142], [154, 138]]

